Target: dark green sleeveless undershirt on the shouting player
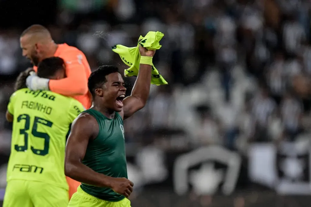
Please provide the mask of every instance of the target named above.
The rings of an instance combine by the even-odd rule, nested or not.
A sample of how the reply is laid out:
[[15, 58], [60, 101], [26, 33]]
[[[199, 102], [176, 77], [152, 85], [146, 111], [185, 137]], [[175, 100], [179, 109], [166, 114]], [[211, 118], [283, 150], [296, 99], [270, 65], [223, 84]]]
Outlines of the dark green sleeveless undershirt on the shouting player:
[[[88, 143], [82, 163], [97, 173], [115, 178], [128, 178], [122, 117], [117, 112], [114, 119], [108, 119], [94, 109], [84, 112], [95, 117], [99, 132], [98, 136]], [[102, 200], [119, 201], [124, 198], [110, 188], [82, 183], [81, 189]]]

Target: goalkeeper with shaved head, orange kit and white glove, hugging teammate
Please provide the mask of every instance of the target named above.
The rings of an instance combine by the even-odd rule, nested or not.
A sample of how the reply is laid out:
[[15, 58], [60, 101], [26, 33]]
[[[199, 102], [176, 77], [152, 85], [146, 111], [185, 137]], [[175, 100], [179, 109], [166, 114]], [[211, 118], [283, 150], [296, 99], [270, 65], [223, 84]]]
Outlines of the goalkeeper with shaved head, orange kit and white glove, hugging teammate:
[[[35, 73], [26, 80], [26, 85], [31, 90], [49, 90], [64, 96], [70, 96], [78, 100], [86, 109], [92, 105], [91, 95], [87, 88], [87, 79], [91, 74], [83, 52], [76, 47], [64, 44], [56, 44], [49, 32], [42, 25], [31, 25], [25, 29], [20, 37], [20, 45], [23, 56], [31, 61], [34, 70], [40, 61], [49, 57], [60, 57], [65, 62], [66, 78], [52, 80], [39, 78]], [[77, 191], [80, 182], [67, 177], [69, 184], [69, 196]]]

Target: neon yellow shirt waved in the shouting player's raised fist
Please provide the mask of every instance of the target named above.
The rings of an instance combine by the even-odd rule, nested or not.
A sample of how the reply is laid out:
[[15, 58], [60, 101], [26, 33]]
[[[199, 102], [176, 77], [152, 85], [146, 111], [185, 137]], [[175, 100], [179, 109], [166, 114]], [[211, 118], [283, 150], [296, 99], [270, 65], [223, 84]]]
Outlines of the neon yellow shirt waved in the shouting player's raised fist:
[[[148, 32], [145, 37], [140, 36], [136, 47], [125, 47], [123, 45], [115, 45], [112, 47], [112, 51], [118, 53], [122, 61], [130, 66], [127, 70], [124, 70], [124, 76], [137, 76], [140, 63], [139, 45], [145, 47], [148, 50], [158, 50], [162, 47], [160, 40], [164, 36], [161, 32]], [[168, 84], [166, 80], [160, 75], [159, 71], [152, 64], [151, 72], [151, 84], [164, 85]]]

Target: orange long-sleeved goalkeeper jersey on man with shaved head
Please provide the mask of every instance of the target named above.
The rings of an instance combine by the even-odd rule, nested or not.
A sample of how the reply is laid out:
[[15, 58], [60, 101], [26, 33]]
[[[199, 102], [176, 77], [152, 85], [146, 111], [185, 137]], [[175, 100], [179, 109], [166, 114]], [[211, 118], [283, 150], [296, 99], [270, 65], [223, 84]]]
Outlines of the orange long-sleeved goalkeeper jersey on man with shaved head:
[[[60, 80], [50, 80], [50, 91], [73, 97], [86, 109], [89, 109], [92, 105], [92, 98], [87, 88], [87, 79], [90, 77], [91, 68], [86, 56], [76, 47], [69, 46], [66, 43], [58, 44], [54, 56], [64, 60], [67, 77]], [[36, 66], [34, 66], [34, 70], [37, 71]]]

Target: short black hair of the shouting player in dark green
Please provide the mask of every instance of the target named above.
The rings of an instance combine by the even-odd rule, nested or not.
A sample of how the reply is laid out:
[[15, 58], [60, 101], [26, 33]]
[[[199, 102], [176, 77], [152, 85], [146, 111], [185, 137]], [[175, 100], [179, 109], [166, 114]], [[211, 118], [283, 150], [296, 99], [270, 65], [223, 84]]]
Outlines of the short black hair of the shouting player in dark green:
[[119, 72], [118, 67], [113, 65], [103, 65], [91, 73], [87, 82], [87, 87], [93, 97], [95, 97], [95, 89], [101, 88], [103, 84], [107, 82], [106, 76], [116, 72]]

